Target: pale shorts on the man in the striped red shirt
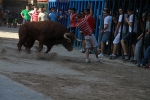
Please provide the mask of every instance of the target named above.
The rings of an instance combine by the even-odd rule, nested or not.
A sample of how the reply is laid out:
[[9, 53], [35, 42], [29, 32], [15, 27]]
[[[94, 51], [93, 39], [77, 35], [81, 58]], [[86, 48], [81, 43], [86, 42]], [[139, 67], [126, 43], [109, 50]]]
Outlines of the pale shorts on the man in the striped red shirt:
[[86, 48], [96, 47], [98, 45], [96, 38], [94, 37], [94, 34], [91, 36], [85, 36], [85, 43]]

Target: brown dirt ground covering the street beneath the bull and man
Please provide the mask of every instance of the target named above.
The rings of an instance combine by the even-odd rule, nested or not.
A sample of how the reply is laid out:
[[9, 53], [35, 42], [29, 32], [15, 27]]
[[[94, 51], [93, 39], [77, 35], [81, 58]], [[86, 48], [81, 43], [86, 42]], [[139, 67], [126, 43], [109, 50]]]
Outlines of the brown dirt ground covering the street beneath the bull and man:
[[[1, 33], [0, 33], [1, 34]], [[17, 51], [18, 39], [0, 38], [0, 74], [53, 100], [150, 100], [150, 69], [109, 60], [85, 63], [77, 48], [57, 45], [45, 54]]]

